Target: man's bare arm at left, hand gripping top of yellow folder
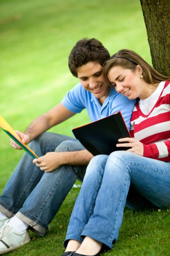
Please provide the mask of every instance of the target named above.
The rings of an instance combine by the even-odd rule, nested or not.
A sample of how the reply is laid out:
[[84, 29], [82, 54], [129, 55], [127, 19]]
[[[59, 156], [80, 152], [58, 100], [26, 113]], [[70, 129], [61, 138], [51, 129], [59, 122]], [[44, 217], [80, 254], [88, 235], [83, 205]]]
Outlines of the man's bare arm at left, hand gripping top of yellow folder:
[[[30, 141], [37, 138], [41, 133], [45, 132], [49, 128], [60, 124], [75, 113], [71, 112], [59, 103], [56, 107], [52, 108], [44, 115], [37, 117], [25, 130], [24, 133], [16, 131], [22, 142], [28, 144]], [[20, 146], [11, 139], [11, 146], [15, 149], [21, 149]]]

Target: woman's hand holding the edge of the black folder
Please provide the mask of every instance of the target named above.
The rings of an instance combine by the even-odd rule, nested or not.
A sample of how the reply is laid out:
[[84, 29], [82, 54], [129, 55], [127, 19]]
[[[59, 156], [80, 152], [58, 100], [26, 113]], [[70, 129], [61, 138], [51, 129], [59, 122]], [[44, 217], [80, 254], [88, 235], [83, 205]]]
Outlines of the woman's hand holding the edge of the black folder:
[[125, 142], [125, 143], [116, 144], [117, 148], [128, 147], [130, 148], [130, 149], [127, 149], [127, 151], [129, 152], [133, 152], [137, 155], [144, 154], [144, 146], [139, 140], [136, 140], [134, 138], [121, 138], [118, 141]]

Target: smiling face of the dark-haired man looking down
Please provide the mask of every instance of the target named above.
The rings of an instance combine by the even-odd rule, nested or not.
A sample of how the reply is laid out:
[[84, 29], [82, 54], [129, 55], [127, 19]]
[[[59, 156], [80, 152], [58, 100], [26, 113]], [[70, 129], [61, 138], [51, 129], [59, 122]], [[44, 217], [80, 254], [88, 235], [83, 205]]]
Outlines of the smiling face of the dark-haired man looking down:
[[100, 104], [103, 104], [110, 91], [102, 69], [99, 63], [93, 61], [77, 68], [77, 75], [82, 86], [99, 99]]

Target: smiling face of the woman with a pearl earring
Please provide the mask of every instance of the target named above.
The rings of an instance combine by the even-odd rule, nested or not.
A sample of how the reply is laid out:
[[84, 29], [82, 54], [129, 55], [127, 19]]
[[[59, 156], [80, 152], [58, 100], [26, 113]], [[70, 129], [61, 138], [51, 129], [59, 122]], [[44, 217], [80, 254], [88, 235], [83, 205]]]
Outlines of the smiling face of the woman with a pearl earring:
[[136, 71], [114, 66], [108, 72], [108, 79], [116, 91], [131, 100], [140, 97], [142, 93], [142, 79], [140, 79], [142, 68], [138, 66]]

